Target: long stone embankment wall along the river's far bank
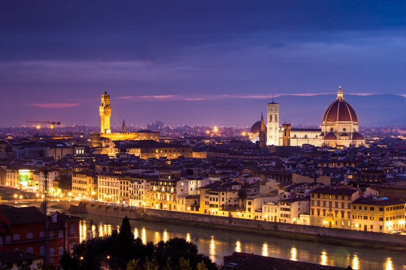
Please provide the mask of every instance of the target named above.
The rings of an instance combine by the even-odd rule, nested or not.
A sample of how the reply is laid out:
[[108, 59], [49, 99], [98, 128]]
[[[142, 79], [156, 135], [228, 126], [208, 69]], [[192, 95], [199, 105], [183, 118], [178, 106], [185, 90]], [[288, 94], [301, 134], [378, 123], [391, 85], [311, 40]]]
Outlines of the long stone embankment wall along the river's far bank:
[[131, 219], [140, 219], [145, 216], [153, 216], [166, 219], [204, 222], [213, 225], [245, 227], [264, 230], [278, 230], [280, 232], [287, 232], [293, 234], [322, 236], [332, 239], [406, 247], [406, 235], [363, 232], [361, 230], [347, 230], [310, 225], [298, 225], [273, 221], [232, 218], [197, 213], [185, 213], [153, 208], [116, 207], [98, 203], [80, 203], [79, 206], [72, 206], [71, 211], [75, 213], [85, 213], [119, 218], [127, 216], [128, 218]]

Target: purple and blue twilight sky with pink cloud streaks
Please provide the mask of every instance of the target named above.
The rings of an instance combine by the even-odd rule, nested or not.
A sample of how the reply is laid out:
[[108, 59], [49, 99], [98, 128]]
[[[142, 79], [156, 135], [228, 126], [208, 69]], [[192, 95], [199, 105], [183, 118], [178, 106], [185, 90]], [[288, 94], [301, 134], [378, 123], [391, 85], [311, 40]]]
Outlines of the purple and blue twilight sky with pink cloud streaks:
[[0, 35], [0, 127], [98, 126], [105, 89], [127, 126], [250, 126], [340, 85], [406, 97], [405, 1], [13, 0]]

